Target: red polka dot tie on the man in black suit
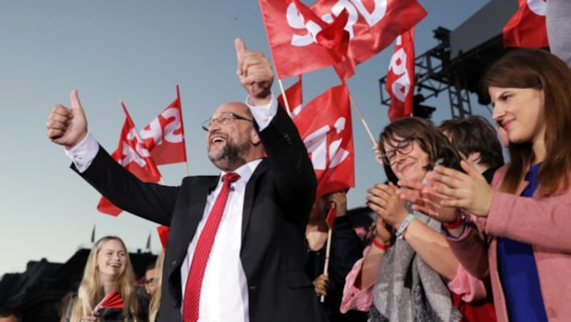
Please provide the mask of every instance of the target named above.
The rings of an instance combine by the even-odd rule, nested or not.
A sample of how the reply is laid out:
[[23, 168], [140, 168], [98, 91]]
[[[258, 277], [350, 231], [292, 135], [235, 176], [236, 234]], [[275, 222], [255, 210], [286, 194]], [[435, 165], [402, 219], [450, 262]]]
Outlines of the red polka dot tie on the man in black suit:
[[208, 256], [212, 249], [212, 243], [216, 236], [216, 231], [220, 225], [224, 207], [226, 207], [226, 200], [230, 193], [230, 185], [232, 182], [240, 179], [237, 173], [227, 173], [222, 177], [222, 189], [216, 197], [216, 201], [206, 219], [206, 224], [202, 229], [201, 235], [198, 237], [196, 249], [192, 257], [191, 269], [188, 270], [186, 278], [186, 285], [184, 286], [184, 299], [183, 299], [183, 321], [196, 322], [198, 320], [198, 306], [200, 305], [202, 279], [206, 263], [208, 263]]

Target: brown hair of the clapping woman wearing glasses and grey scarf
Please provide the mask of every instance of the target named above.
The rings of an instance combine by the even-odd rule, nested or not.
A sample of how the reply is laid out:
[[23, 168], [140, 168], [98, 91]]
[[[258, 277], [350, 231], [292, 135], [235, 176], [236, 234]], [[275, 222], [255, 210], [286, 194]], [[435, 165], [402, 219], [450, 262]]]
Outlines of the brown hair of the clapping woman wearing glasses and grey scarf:
[[[454, 149], [453, 145], [448, 141], [440, 131], [435, 128], [433, 123], [423, 118], [400, 118], [385, 126], [383, 132], [380, 133], [378, 142], [379, 150], [385, 154], [385, 143], [391, 146], [391, 141], [395, 137], [403, 139], [413, 137], [420, 148], [428, 155], [428, 165], [425, 170], [432, 170], [436, 162], [440, 160], [440, 164], [445, 167], [460, 169], [460, 155]], [[383, 163], [385, 174], [388, 180], [396, 185], [398, 181], [395, 173], [389, 165]]]

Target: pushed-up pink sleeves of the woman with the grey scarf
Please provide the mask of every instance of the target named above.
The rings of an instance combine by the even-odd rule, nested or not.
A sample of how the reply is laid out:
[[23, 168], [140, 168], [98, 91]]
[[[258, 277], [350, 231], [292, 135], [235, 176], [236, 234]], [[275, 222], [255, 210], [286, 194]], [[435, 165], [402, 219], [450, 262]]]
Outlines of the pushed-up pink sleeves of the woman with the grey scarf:
[[[343, 300], [341, 301], [341, 313], [349, 310], [369, 311], [373, 303], [373, 286], [367, 289], [358, 289], [355, 281], [363, 267], [363, 260], [369, 251], [370, 246], [363, 250], [363, 258], [353, 265], [353, 269], [345, 278], [345, 288], [343, 289]], [[455, 294], [462, 296], [466, 302], [477, 301], [486, 297], [486, 289], [482, 281], [468, 274], [462, 265], [458, 265], [456, 277], [448, 283], [448, 289]]]

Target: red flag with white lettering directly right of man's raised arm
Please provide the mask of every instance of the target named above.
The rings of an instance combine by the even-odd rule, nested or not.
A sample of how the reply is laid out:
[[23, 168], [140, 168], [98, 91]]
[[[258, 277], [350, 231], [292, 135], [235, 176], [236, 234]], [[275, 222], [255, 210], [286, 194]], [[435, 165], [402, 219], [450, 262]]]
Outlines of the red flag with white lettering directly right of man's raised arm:
[[310, 155], [317, 195], [355, 187], [353, 127], [345, 84], [325, 91], [293, 118]]

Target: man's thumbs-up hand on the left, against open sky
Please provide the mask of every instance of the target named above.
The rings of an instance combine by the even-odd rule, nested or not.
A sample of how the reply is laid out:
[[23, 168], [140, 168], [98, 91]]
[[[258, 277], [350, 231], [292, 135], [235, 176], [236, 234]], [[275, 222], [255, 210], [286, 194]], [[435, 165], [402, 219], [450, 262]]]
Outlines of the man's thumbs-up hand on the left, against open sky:
[[67, 149], [76, 146], [87, 135], [87, 120], [77, 90], [69, 94], [71, 108], [57, 104], [51, 109], [46, 122], [46, 134], [51, 140]]

